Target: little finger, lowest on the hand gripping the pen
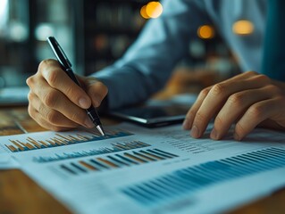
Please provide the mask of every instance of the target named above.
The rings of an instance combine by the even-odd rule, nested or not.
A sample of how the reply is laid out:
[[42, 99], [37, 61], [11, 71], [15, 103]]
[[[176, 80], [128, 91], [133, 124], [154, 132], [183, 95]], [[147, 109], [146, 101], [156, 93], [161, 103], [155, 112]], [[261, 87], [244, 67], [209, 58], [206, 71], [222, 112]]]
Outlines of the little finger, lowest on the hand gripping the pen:
[[43, 128], [53, 131], [65, 131], [71, 128], [76, 128], [76, 126], [64, 127], [64, 126], [56, 126], [54, 124], [51, 124], [50, 122], [46, 121], [46, 119], [44, 119], [42, 115], [38, 111], [36, 111], [31, 105], [29, 105], [28, 111], [29, 111], [29, 116], [35, 121], [37, 121], [37, 123]]

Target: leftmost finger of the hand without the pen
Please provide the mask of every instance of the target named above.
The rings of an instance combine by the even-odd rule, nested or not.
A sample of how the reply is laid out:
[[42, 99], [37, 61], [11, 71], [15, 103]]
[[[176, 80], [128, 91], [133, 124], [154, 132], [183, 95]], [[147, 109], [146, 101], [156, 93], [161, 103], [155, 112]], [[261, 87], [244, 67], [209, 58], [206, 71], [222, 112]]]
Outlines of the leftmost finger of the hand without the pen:
[[192, 128], [192, 123], [195, 118], [195, 115], [198, 109], [200, 108], [201, 104], [203, 103], [205, 96], [208, 95], [210, 88], [211, 86], [206, 87], [199, 93], [199, 95], [197, 96], [197, 100], [187, 112], [186, 117], [183, 121], [183, 125], [182, 125], [185, 130], [189, 130], [190, 128]]

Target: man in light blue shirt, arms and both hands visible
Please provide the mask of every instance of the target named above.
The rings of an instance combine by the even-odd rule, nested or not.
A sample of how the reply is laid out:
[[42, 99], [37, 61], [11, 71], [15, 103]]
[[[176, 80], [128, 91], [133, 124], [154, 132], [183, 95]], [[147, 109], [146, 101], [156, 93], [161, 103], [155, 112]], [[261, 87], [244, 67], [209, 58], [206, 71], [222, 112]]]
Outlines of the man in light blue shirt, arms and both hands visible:
[[[263, 0], [166, 0], [163, 15], [147, 22], [122, 59], [92, 77], [79, 77], [85, 92], [68, 78], [58, 62], [41, 62], [38, 72], [27, 79], [29, 114], [42, 127], [56, 131], [80, 125], [93, 127], [84, 109], [91, 103], [100, 106], [107, 94], [109, 108], [147, 99], [170, 77], [198, 26], [212, 22], [239, 56], [244, 73], [202, 90], [183, 128], [198, 138], [214, 118], [211, 138], [221, 139], [235, 124], [236, 140], [256, 126], [285, 130], [285, 82], [258, 73], [265, 13]], [[232, 24], [241, 18], [253, 22], [255, 29], [250, 36], [233, 34]]]

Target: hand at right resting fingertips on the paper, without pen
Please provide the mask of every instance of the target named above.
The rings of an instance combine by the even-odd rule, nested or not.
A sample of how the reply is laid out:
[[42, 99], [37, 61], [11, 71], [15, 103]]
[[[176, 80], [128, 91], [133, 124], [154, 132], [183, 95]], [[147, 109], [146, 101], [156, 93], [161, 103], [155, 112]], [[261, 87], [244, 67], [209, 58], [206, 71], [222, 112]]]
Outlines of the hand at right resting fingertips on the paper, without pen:
[[214, 140], [225, 136], [232, 124], [236, 140], [257, 126], [285, 131], [285, 83], [247, 71], [206, 87], [188, 111], [183, 128], [199, 138], [211, 119]]

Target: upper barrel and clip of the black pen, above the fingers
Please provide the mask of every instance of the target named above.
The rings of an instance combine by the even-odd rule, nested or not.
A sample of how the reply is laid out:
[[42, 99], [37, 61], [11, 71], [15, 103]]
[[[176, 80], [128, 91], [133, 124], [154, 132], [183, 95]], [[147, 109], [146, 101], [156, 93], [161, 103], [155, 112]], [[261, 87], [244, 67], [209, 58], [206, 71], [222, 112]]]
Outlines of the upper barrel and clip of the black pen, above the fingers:
[[54, 37], [46, 38], [48, 44], [51, 46], [58, 62], [60, 62], [65, 69], [71, 68], [72, 64], [67, 58], [66, 54], [63, 52], [63, 48], [58, 44]]

